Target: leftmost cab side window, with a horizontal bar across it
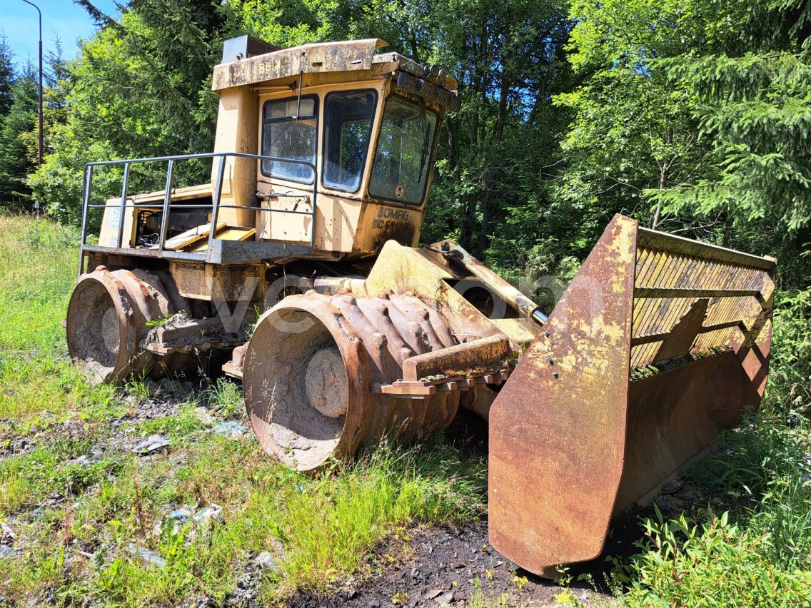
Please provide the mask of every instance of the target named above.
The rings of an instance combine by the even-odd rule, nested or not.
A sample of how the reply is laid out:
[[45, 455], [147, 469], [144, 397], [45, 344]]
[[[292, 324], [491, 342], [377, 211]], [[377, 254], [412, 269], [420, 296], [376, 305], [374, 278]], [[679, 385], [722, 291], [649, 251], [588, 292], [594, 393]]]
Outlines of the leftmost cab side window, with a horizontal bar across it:
[[[296, 112], [298, 110], [298, 118]], [[281, 101], [265, 101], [262, 107], [262, 155], [308, 161], [315, 165], [318, 135], [318, 99], [315, 96]], [[262, 161], [262, 173], [294, 182], [312, 183], [313, 170], [307, 165], [284, 161]]]

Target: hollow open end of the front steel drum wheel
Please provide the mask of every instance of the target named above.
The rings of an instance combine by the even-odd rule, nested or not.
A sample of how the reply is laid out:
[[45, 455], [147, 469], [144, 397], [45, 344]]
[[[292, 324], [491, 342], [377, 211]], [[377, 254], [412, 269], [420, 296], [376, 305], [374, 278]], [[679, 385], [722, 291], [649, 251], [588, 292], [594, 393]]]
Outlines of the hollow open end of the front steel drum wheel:
[[358, 335], [328, 300], [290, 296], [268, 310], [242, 366], [249, 421], [264, 451], [304, 471], [352, 456], [368, 425], [369, 375]]

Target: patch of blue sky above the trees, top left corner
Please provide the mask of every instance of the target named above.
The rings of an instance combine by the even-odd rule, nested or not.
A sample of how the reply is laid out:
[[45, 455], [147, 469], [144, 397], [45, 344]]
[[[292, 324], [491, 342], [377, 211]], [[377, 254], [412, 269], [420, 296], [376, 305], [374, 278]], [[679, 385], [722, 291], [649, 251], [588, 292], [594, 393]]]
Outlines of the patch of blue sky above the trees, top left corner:
[[[84, 8], [76, 6], [72, 0], [32, 0], [42, 11], [42, 54], [55, 49], [54, 41], [62, 42], [62, 55], [66, 59], [75, 58], [79, 52], [76, 41], [95, 31]], [[106, 15], [116, 15], [113, 0], [92, 0]], [[38, 58], [37, 40], [39, 24], [36, 9], [23, 0], [0, 0], [0, 36], [6, 36], [6, 43], [14, 53], [15, 63], [24, 63], [28, 58], [36, 66]]]

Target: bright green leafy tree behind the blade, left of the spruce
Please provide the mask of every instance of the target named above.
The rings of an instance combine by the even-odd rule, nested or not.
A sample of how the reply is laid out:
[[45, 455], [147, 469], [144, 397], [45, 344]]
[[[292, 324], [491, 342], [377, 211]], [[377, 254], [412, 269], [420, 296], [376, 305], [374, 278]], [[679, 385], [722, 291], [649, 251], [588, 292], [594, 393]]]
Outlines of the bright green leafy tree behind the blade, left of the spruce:
[[654, 195], [689, 180], [704, 162], [696, 145], [693, 91], [670, 81], [657, 61], [706, 46], [701, 2], [573, 2], [569, 61], [586, 78], [556, 103], [574, 116], [561, 142], [563, 202], [599, 216], [636, 216], [654, 228], [680, 227]]

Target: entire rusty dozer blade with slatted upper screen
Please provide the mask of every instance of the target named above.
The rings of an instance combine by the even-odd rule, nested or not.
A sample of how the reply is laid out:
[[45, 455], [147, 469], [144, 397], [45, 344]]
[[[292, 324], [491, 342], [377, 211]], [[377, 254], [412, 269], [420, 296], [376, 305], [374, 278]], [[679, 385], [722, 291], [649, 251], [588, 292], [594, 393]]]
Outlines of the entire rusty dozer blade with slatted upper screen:
[[766, 384], [775, 260], [615, 216], [490, 413], [490, 539], [530, 572], [594, 559]]

